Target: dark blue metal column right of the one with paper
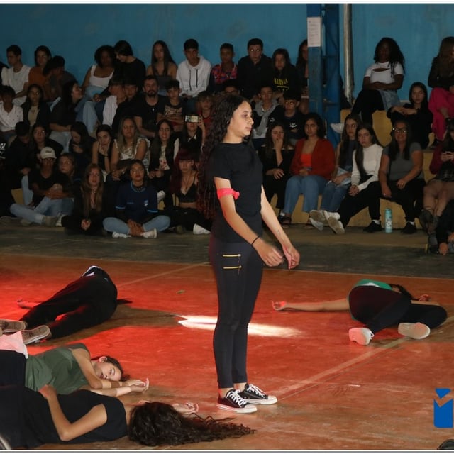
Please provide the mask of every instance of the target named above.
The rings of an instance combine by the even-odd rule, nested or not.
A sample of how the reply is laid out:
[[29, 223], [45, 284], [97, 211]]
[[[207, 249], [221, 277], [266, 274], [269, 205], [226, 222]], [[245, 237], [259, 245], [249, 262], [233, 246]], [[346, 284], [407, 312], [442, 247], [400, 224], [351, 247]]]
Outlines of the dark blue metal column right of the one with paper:
[[324, 116], [327, 124], [328, 139], [337, 145], [339, 136], [330, 128], [330, 123], [338, 123], [341, 113], [341, 68], [339, 65], [339, 5], [325, 5], [326, 36], [326, 86]]

